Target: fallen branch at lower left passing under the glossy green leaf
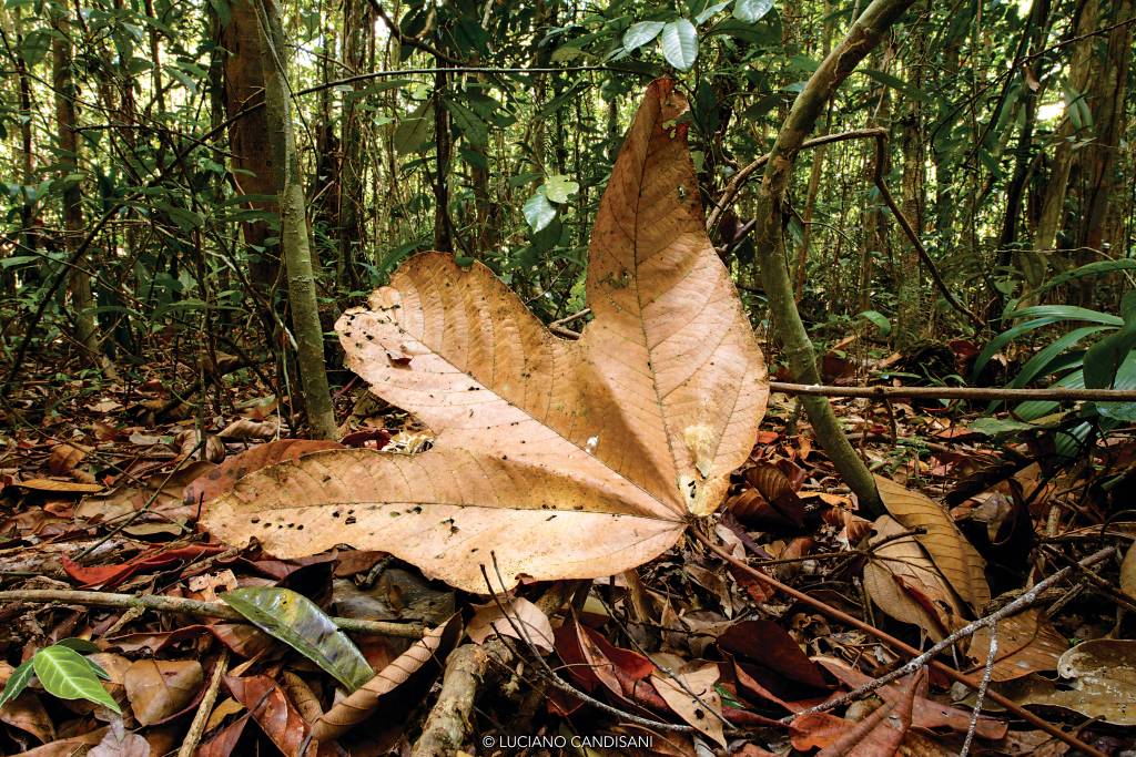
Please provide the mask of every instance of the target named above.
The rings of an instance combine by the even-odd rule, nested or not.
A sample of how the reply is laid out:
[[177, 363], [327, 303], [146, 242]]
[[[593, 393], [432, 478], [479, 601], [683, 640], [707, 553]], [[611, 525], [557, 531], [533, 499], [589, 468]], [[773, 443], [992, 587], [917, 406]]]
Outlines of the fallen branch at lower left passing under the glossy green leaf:
[[[110, 594], [107, 591], [73, 591], [67, 589], [28, 589], [25, 591], [0, 591], [0, 603], [62, 603], [65, 605], [86, 605], [92, 607], [143, 607], [166, 613], [184, 613], [198, 617], [218, 617], [225, 621], [248, 622], [241, 613], [228, 605], [183, 597], [164, 597], [144, 594]], [[391, 636], [402, 639], [420, 639], [420, 623], [391, 623], [386, 621], [362, 621], [354, 617], [333, 617], [332, 621], [341, 631], [352, 633], [369, 633], [373, 636]]]

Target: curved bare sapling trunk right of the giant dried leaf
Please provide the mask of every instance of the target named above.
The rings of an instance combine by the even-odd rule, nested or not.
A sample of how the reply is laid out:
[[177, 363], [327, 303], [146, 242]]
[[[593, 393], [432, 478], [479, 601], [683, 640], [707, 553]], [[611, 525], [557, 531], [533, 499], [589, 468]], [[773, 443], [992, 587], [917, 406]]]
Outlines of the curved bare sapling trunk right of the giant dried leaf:
[[[778, 336], [790, 360], [790, 369], [801, 384], [820, 384], [817, 353], [804, 329], [793, 300], [793, 281], [785, 264], [782, 221], [787, 210], [786, 193], [801, 143], [812, 132], [817, 119], [840, 85], [875, 48], [887, 30], [914, 0], [872, 0], [849, 30], [844, 40], [829, 53], [796, 96], [788, 118], [782, 125], [757, 196], [757, 262], [769, 298], [769, 309]], [[876, 482], [868, 466], [849, 444], [844, 430], [825, 397], [802, 397], [817, 439], [824, 445], [836, 470], [872, 516], [884, 514]]]

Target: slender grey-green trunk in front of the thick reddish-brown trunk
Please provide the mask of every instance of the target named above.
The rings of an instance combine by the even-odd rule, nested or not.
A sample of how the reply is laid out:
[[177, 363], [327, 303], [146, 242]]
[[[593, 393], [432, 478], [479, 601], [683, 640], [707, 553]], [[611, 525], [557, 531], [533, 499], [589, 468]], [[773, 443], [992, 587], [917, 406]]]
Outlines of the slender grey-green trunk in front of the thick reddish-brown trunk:
[[287, 52], [281, 27], [279, 10], [274, 0], [259, 3], [259, 34], [265, 110], [268, 141], [276, 171], [276, 190], [281, 207], [281, 239], [287, 271], [289, 306], [295, 335], [296, 363], [303, 392], [308, 426], [316, 437], [332, 439], [336, 435], [335, 411], [327, 386], [324, 364], [324, 330], [319, 323], [316, 300], [316, 277], [312, 272], [311, 246], [308, 242], [308, 217], [304, 209], [303, 177], [292, 127], [292, 108], [287, 85]]

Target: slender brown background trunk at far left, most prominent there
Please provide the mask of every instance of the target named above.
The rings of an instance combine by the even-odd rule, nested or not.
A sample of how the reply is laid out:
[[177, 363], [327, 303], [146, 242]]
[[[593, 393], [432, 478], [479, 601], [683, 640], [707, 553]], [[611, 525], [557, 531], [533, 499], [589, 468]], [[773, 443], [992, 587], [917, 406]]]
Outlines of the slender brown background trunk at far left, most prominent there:
[[[58, 33], [51, 40], [51, 84], [56, 93], [56, 126], [58, 128], [59, 166], [64, 175], [78, 173], [78, 138], [75, 136], [75, 81], [72, 76], [70, 30], [67, 16], [57, 12], [52, 26]], [[66, 247], [74, 251], [78, 236], [83, 233], [83, 193], [78, 180], [68, 179], [64, 190], [64, 230]], [[75, 311], [75, 338], [87, 350], [87, 358], [99, 361], [99, 337], [95, 330], [94, 295], [91, 293], [91, 276], [81, 267], [70, 270], [72, 308]]]

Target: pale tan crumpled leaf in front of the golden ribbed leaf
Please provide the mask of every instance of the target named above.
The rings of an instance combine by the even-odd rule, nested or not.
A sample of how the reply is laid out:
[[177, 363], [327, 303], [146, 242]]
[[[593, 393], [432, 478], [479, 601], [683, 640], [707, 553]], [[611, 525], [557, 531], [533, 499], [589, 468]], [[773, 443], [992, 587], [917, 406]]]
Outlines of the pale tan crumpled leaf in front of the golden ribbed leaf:
[[[903, 533], [900, 523], [882, 515], [869, 544]], [[863, 588], [885, 613], [921, 628], [936, 641], [961, 624], [962, 615], [951, 587], [914, 537], [893, 539], [872, 549], [863, 567]]]

